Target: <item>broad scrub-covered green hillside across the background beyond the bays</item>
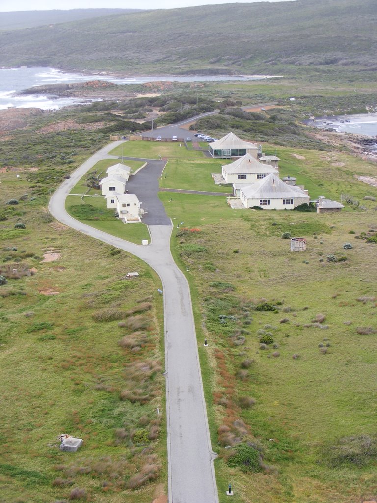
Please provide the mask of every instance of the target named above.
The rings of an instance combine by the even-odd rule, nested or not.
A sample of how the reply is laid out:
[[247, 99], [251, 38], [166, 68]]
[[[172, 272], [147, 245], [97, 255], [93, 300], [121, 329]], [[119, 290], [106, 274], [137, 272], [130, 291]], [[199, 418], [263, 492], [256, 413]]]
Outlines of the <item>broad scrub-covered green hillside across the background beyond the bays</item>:
[[146, 11], [0, 34], [0, 65], [135, 73], [377, 67], [374, 0]]

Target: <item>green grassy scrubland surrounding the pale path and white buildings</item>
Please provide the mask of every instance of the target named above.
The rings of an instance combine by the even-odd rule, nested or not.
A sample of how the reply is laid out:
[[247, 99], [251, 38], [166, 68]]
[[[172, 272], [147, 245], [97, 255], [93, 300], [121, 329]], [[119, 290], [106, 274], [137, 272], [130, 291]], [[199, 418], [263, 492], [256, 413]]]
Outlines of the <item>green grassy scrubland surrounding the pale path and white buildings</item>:
[[[343, 198], [341, 213], [232, 210], [225, 198], [160, 192], [173, 223], [183, 222], [174, 225], [171, 249], [191, 285], [220, 501], [229, 483], [237, 503], [375, 496], [377, 194], [357, 180], [375, 177], [375, 163], [300, 125], [320, 110], [322, 96], [323, 110], [345, 112], [371, 105], [373, 93], [353, 99], [345, 84], [342, 102], [327, 86], [308, 85], [305, 97], [296, 85], [203, 89], [216, 103], [233, 102], [219, 117], [263, 117], [263, 151], [280, 157], [281, 176], [297, 177], [312, 198]], [[171, 101], [181, 89], [167, 93]], [[296, 143], [285, 141], [287, 131], [267, 134], [274, 109], [253, 119], [233, 113], [272, 96], [281, 100], [277, 124], [289, 115]], [[0, 286], [0, 477], [7, 503], [146, 503], [166, 494], [159, 280], [141, 261], [67, 229], [46, 210], [64, 176], [109, 142], [109, 133], [124, 132], [116, 105], [105, 112], [96, 106], [43, 114], [0, 142], [0, 275], [7, 281]], [[73, 128], [64, 130], [67, 121]], [[82, 127], [85, 121], [92, 129]], [[207, 126], [215, 135], [229, 124]], [[246, 131], [243, 122], [237, 132], [260, 141], [261, 133]], [[167, 157], [164, 189], [228, 190], [216, 189], [211, 178], [221, 160], [179, 144], [128, 142], [113, 153]], [[97, 173], [106, 167], [96, 166]], [[85, 177], [77, 193], [86, 184]], [[91, 199], [100, 201], [69, 196], [67, 208], [118, 235], [113, 217]], [[127, 227], [124, 237], [138, 240]], [[305, 237], [307, 250], [292, 253], [290, 239], [281, 237], [287, 233]], [[57, 260], [42, 263], [45, 254]], [[139, 279], [125, 279], [129, 270]], [[74, 457], [59, 451], [60, 433], [84, 439]]]

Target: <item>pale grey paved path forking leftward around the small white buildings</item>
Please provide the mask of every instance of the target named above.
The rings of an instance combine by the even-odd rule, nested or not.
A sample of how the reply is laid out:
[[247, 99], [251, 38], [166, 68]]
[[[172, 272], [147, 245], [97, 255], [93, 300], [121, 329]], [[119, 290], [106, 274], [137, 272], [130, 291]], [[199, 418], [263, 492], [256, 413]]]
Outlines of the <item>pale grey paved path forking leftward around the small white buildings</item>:
[[64, 209], [71, 188], [98, 160], [111, 157], [107, 152], [119, 144], [101, 149], [65, 180], [52, 195], [49, 211], [69, 227], [140, 257], [159, 275], [164, 292], [169, 503], [218, 503], [190, 289], [170, 254], [172, 226], [150, 226], [152, 242], [141, 246], [93, 229]]

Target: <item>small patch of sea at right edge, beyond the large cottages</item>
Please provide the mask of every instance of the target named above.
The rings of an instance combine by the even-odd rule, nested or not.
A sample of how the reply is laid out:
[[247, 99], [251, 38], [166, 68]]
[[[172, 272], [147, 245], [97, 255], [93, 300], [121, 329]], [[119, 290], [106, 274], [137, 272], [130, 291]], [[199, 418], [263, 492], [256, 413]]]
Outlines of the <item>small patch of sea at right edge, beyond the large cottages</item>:
[[322, 117], [310, 121], [309, 125], [319, 127], [321, 129], [335, 129], [340, 133], [364, 134], [374, 138], [377, 135], [377, 114]]

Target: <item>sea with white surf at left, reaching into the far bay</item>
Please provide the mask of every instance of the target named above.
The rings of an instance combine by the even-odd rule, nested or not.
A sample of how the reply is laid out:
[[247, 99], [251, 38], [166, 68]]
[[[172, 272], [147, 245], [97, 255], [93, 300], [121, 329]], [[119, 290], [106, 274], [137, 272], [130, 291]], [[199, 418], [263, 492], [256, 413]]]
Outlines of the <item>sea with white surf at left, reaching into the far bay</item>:
[[[0, 110], [10, 107], [37, 107], [43, 110], [56, 110], [82, 100], [51, 96], [17, 96], [20, 91], [35, 86], [44, 86], [59, 82], [86, 82], [87, 80], [108, 80], [117, 84], [141, 84], [155, 80], [175, 80], [178, 82], [216, 81], [216, 80], [260, 80], [273, 75], [208, 75], [208, 76], [149, 76], [115, 77], [107, 74], [83, 75], [67, 73], [56, 68], [0, 68]], [[277, 76], [277, 75], [276, 75]], [[93, 100], [95, 101], [95, 100]]]

